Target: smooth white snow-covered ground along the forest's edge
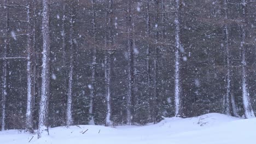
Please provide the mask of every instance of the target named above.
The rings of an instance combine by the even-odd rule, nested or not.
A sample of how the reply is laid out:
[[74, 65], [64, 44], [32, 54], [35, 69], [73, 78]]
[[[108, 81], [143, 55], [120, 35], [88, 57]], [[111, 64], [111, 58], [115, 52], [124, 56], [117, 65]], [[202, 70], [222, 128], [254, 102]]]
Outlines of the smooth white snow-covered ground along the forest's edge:
[[32, 136], [34, 137], [30, 143], [51, 144], [255, 143], [256, 118], [241, 119], [209, 113], [193, 118], [166, 118], [158, 124], [143, 127], [108, 128], [98, 125], [79, 125], [70, 128], [51, 128], [49, 131], [50, 135], [43, 135], [41, 139], [37, 139], [37, 135], [18, 133], [18, 130], [0, 131], [0, 143], [28, 143]]

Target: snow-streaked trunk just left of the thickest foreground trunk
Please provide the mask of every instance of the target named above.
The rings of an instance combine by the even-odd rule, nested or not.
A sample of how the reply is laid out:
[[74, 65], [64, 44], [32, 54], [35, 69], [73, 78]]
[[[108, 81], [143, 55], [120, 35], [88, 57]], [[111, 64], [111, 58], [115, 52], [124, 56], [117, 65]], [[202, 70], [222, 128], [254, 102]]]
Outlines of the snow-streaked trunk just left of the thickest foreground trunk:
[[29, 25], [29, 31], [27, 34], [27, 109], [26, 109], [26, 129], [33, 133], [32, 122], [32, 106], [33, 106], [33, 65], [32, 65], [32, 38], [33, 38], [33, 25], [31, 22], [31, 3], [27, 6], [27, 22]]

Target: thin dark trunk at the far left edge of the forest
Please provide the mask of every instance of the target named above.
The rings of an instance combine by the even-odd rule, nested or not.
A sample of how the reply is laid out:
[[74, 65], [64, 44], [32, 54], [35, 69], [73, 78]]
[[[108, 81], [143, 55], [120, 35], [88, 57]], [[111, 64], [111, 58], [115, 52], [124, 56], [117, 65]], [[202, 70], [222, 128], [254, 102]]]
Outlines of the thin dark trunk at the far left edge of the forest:
[[[4, 0], [4, 4], [8, 4], [8, 0]], [[7, 97], [7, 49], [9, 47], [9, 8], [5, 7], [5, 39], [4, 39], [4, 56], [3, 56], [3, 91], [2, 91], [2, 117], [1, 117], [1, 122], [2, 122], [2, 130], [5, 130], [5, 101]]]

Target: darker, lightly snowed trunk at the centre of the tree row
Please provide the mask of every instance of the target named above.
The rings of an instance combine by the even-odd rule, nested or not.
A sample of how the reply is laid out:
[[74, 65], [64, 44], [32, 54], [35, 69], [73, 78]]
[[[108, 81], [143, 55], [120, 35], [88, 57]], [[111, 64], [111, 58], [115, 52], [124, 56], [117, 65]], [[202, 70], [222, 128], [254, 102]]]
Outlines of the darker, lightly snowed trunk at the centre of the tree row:
[[134, 84], [134, 65], [133, 65], [133, 35], [132, 35], [132, 16], [131, 16], [131, 2], [127, 2], [127, 12], [128, 12], [128, 29], [127, 29], [127, 46], [128, 46], [128, 89], [127, 89], [127, 99], [126, 99], [126, 123], [128, 125], [132, 124], [132, 98], [133, 98], [133, 84]]

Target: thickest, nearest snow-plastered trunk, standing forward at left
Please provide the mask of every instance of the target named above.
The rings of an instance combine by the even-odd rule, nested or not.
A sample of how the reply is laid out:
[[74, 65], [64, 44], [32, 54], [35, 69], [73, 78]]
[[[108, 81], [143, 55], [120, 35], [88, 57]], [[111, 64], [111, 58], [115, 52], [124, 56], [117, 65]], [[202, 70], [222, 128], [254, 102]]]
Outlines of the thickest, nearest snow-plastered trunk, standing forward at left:
[[43, 0], [43, 64], [42, 64], [42, 90], [39, 108], [38, 138], [42, 137], [43, 131], [47, 130], [46, 119], [48, 113], [49, 95], [49, 54], [50, 54], [50, 29], [49, 29], [49, 0]]

